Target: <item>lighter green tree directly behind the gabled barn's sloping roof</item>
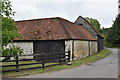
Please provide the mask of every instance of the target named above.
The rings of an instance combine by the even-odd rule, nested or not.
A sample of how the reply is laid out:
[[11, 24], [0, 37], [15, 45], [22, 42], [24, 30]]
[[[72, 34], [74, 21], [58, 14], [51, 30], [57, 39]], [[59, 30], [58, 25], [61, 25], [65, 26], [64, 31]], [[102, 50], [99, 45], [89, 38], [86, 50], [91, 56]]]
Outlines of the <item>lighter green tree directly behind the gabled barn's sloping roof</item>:
[[90, 22], [90, 24], [96, 29], [98, 30], [101, 34], [103, 33], [103, 30], [100, 28], [100, 23], [97, 19], [93, 19], [93, 18], [89, 18], [86, 17], [86, 20], [88, 20], [88, 22]]

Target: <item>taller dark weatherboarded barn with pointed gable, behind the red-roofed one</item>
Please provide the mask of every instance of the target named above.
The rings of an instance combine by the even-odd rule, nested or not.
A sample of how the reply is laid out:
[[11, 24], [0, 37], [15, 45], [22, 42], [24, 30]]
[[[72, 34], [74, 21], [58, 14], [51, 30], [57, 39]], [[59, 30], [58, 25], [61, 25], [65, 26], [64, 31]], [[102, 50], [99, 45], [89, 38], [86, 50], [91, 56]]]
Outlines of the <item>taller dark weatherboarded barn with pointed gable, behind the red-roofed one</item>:
[[75, 24], [85, 27], [97, 39], [98, 52], [104, 49], [104, 38], [85, 18], [79, 16], [75, 21]]

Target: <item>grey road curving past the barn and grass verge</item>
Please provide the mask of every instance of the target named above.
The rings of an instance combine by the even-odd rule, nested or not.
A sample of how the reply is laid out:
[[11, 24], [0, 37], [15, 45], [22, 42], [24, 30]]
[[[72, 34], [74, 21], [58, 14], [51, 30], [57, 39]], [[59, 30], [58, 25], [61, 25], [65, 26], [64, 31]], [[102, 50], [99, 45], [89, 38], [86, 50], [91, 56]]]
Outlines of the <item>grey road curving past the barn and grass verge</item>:
[[112, 54], [88, 65], [19, 78], [118, 78], [118, 49], [109, 49]]

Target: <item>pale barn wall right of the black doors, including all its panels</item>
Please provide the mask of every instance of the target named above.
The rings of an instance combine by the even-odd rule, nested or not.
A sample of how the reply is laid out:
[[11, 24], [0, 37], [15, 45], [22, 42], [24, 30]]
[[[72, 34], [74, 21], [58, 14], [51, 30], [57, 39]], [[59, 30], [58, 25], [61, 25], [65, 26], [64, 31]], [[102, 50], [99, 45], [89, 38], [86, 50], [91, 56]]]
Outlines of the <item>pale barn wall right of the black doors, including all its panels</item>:
[[71, 60], [97, 53], [97, 41], [67, 40], [65, 41], [65, 45], [65, 51], [71, 51]]

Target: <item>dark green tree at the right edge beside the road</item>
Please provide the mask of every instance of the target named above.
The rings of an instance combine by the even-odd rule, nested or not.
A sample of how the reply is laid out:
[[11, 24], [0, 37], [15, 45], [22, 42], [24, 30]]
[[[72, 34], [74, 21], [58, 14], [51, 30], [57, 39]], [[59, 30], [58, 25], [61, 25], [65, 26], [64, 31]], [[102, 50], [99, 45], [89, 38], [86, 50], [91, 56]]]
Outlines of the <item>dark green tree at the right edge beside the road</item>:
[[120, 47], [120, 14], [116, 17], [111, 29], [108, 32], [107, 41], [111, 46]]

